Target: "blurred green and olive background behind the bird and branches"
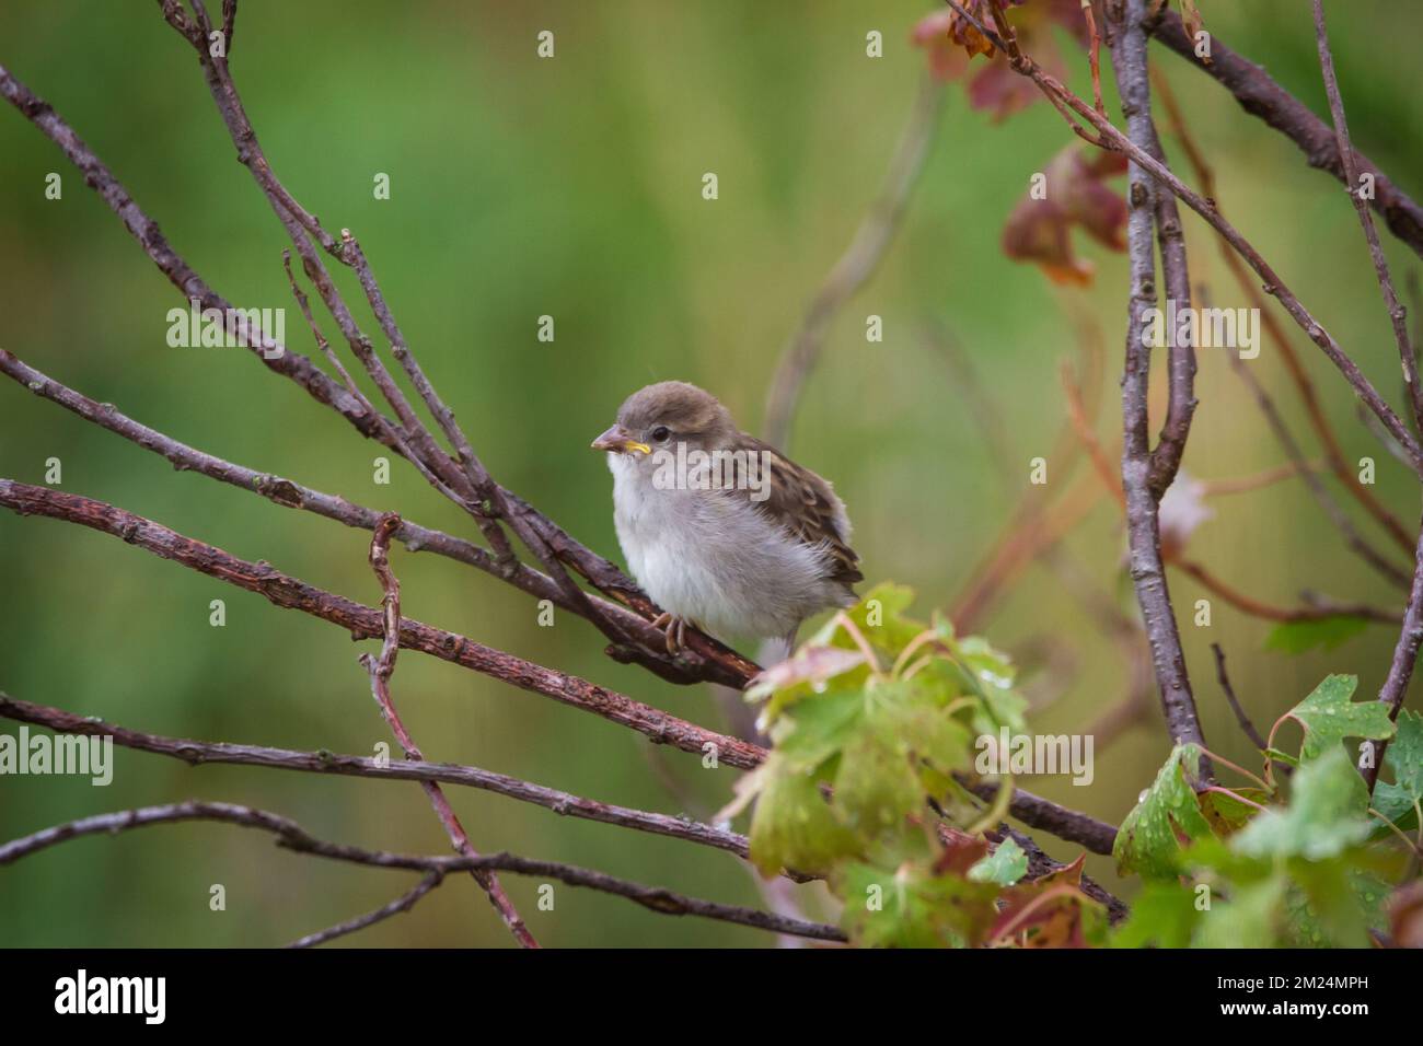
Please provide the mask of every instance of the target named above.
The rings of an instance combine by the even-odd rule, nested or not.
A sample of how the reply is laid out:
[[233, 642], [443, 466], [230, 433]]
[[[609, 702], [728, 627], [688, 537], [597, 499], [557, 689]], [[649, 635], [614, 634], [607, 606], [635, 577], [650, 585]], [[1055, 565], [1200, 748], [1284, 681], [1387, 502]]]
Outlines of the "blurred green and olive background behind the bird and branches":
[[[1201, 9], [1208, 28], [1326, 112], [1302, 0], [1202, 0]], [[1329, 9], [1355, 142], [1417, 196], [1414, 41], [1423, 7], [1355, 0]], [[589, 438], [623, 396], [662, 379], [713, 390], [758, 430], [781, 347], [879, 189], [925, 67], [909, 30], [931, 10], [929, 0], [246, 0], [232, 68], [277, 174], [327, 228], [360, 236], [406, 336], [491, 471], [620, 559], [609, 475], [588, 451]], [[556, 34], [552, 61], [535, 56], [545, 28]], [[865, 57], [869, 30], [884, 34], [882, 58]], [[1227, 213], [1402, 406], [1387, 317], [1339, 184], [1180, 58], [1160, 47], [1153, 57], [1214, 161]], [[1073, 85], [1087, 93], [1086, 61], [1076, 53], [1072, 60]], [[283, 231], [233, 162], [191, 50], [154, 4], [7, 3], [0, 63], [70, 121], [219, 293], [245, 306], [290, 305]], [[1110, 83], [1107, 91], [1116, 114]], [[924, 616], [952, 603], [1023, 494], [1029, 460], [1049, 454], [1063, 418], [1059, 361], [1076, 353], [1064, 302], [1096, 316], [1104, 332], [1100, 430], [1110, 440], [1118, 427], [1124, 258], [1083, 246], [1097, 280], [1060, 292], [999, 249], [1027, 178], [1069, 141], [1044, 104], [995, 125], [968, 108], [961, 85], [949, 85], [899, 238], [834, 323], [787, 448], [831, 477], [848, 502], [868, 579], [915, 586]], [[1178, 159], [1174, 139], [1167, 148]], [[380, 448], [245, 352], [166, 347], [166, 310], [182, 300], [55, 147], [9, 105], [0, 108], [0, 346], [199, 448], [475, 537], [407, 465], [396, 463], [391, 485], [373, 485]], [[63, 175], [61, 201], [44, 199], [51, 171]], [[700, 195], [707, 171], [720, 179], [716, 202]], [[376, 172], [390, 175], [388, 201], [373, 199]], [[1191, 216], [1187, 233], [1192, 275], [1214, 303], [1244, 305], [1204, 225]], [[1417, 268], [1387, 233], [1385, 248], [1400, 279]], [[349, 273], [339, 276], [359, 300]], [[556, 320], [552, 344], [535, 339], [545, 313]], [[865, 342], [868, 313], [884, 317], [882, 343]], [[364, 312], [359, 319], [376, 332]], [[955, 370], [922, 339], [925, 322], [951, 330], [970, 357], [979, 384], [972, 394], [990, 401], [1020, 461], [1010, 475], [995, 467]], [[333, 324], [326, 329], [334, 339]], [[286, 332], [293, 349], [312, 352], [295, 310]], [[1414, 482], [1358, 423], [1328, 363], [1303, 337], [1295, 343], [1346, 455], [1376, 458], [1379, 495], [1414, 519]], [[1315, 457], [1276, 354], [1266, 347], [1251, 366]], [[1220, 353], [1202, 353], [1197, 390], [1185, 460], [1192, 475], [1231, 478], [1284, 461]], [[152, 454], [0, 384], [0, 474], [43, 482], [50, 457], [63, 461], [63, 490], [351, 598], [379, 596], [364, 532], [175, 474]], [[1052, 463], [1049, 477], [1052, 487]], [[1298, 480], [1220, 498], [1214, 508], [1191, 555], [1257, 598], [1288, 605], [1308, 588], [1400, 602], [1345, 552]], [[1134, 613], [1109, 500], [1064, 548]], [[398, 546], [394, 565], [410, 616], [676, 714], [720, 722], [704, 687], [679, 689], [615, 665], [596, 632], [569, 615], [538, 628], [534, 602], [485, 575]], [[1383, 679], [1395, 640], [1386, 628], [1296, 659], [1264, 650], [1269, 625], [1220, 601], [1210, 629], [1191, 626], [1181, 611], [1202, 593], [1181, 575], [1171, 585], [1205, 733], [1222, 754], [1251, 759], [1214, 680], [1212, 640], [1224, 645], [1235, 687], [1262, 727], [1326, 672], [1358, 673], [1362, 693]], [[351, 753], [387, 740], [356, 663], [373, 643], [353, 645], [340, 629], [114, 538], [0, 514], [0, 687], [16, 697], [169, 736]], [[222, 629], [208, 623], [218, 598], [228, 606]], [[1044, 639], [1072, 655], [1070, 666], [1059, 657], [1046, 669], [1040, 690], [1062, 693], [1035, 714], [1039, 730], [1079, 730], [1124, 690], [1120, 650], [1040, 566], [982, 630], [1029, 660]], [[653, 750], [628, 730], [428, 657], [401, 657], [396, 694], [431, 759], [702, 817], [730, 797], [730, 770], [703, 771], [693, 757]], [[1097, 753], [1091, 787], [1067, 778], [1029, 784], [1118, 821], [1167, 747], [1153, 703], [1144, 722]], [[0, 778], [0, 837], [202, 797], [275, 810], [324, 838], [448, 848], [414, 784], [191, 768], [122, 749], [115, 759], [104, 790], [60, 777]], [[724, 854], [468, 790], [453, 798], [482, 850], [760, 902], [751, 875]], [[1059, 858], [1076, 854], [1042, 841]], [[1093, 858], [1090, 870], [1114, 882], [1107, 861]], [[208, 908], [218, 882], [226, 887], [225, 912]], [[410, 882], [296, 857], [231, 827], [161, 827], [68, 842], [0, 870], [0, 944], [273, 945], [374, 908]], [[507, 885], [551, 945], [768, 944], [754, 931], [669, 919], [562, 887], [555, 911], [541, 912], [536, 882], [507, 877]], [[824, 914], [820, 898], [807, 904]], [[467, 879], [349, 941], [509, 945]]]

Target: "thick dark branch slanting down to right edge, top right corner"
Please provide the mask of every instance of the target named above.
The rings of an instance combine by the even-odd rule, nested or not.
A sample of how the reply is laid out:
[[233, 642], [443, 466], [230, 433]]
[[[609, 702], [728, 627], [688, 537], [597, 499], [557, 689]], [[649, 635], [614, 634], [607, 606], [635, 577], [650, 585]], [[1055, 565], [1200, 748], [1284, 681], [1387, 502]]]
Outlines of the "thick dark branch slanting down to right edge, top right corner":
[[[1214, 34], [1211, 61], [1202, 63], [1195, 57], [1195, 41], [1187, 36], [1180, 16], [1174, 11], [1164, 11], [1147, 28], [1190, 65], [1210, 74], [1235, 95], [1241, 108], [1295, 142], [1311, 167], [1328, 171], [1348, 188], [1358, 188], [1358, 182], [1350, 185], [1348, 181], [1333, 130], [1311, 112], [1308, 105], [1275, 83], [1264, 68], [1232, 51]], [[1373, 209], [1395, 236], [1423, 256], [1423, 208], [1409, 199], [1372, 159], [1356, 154], [1356, 161], [1360, 171], [1375, 176]]]

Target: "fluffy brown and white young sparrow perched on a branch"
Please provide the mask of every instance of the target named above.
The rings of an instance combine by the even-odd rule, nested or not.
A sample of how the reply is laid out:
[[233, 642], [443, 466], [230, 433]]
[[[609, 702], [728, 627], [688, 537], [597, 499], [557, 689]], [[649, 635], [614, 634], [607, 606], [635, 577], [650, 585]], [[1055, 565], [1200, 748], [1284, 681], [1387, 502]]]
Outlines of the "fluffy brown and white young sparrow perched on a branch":
[[665, 613], [669, 653], [687, 622], [723, 640], [781, 639], [852, 606], [862, 581], [830, 482], [743, 433], [714, 396], [660, 381], [629, 396], [592, 443], [613, 474], [628, 566]]

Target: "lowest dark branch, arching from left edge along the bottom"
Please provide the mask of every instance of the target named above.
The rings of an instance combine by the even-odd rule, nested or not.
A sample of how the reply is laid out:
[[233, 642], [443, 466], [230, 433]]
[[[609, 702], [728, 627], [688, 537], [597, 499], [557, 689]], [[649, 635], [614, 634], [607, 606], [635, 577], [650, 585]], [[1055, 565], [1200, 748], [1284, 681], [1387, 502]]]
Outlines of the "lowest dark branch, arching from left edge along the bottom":
[[514, 854], [490, 854], [487, 857], [421, 857], [416, 854], [394, 854], [383, 850], [363, 850], [340, 842], [319, 840], [295, 821], [253, 807], [233, 805], [231, 803], [175, 803], [169, 805], [139, 807], [114, 814], [97, 814], [77, 821], [68, 821], [51, 828], [44, 828], [33, 835], [26, 835], [10, 842], [0, 844], [0, 865], [18, 861], [21, 857], [38, 852], [67, 840], [83, 835], [117, 834], [132, 828], [145, 828], [155, 824], [172, 824], [175, 821], [222, 821], [248, 828], [259, 828], [276, 835], [277, 845], [297, 854], [312, 854], [333, 861], [361, 864], [371, 868], [407, 868], [413, 871], [441, 872], [453, 871], [484, 871], [511, 872], [515, 875], [532, 875], [538, 878], [558, 879], [571, 887], [596, 889], [615, 897], [635, 901], [643, 908], [660, 912], [662, 915], [697, 915], [706, 919], [733, 922], [754, 929], [766, 929], [773, 934], [794, 934], [810, 936], [817, 941], [845, 941], [845, 934], [835, 928], [803, 919], [788, 919], [771, 912], [760, 912], [754, 908], [740, 908], [737, 905], [702, 901], [694, 897], [675, 894], [662, 887], [647, 887], [640, 882], [630, 882], [613, 875], [606, 875], [589, 868], [579, 868], [572, 864], [556, 861], [535, 861]]

